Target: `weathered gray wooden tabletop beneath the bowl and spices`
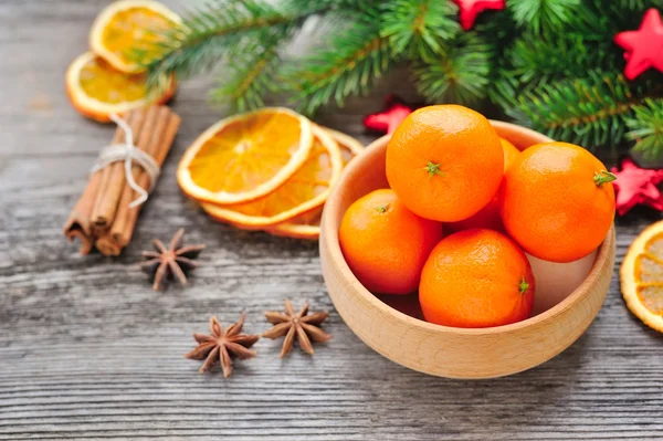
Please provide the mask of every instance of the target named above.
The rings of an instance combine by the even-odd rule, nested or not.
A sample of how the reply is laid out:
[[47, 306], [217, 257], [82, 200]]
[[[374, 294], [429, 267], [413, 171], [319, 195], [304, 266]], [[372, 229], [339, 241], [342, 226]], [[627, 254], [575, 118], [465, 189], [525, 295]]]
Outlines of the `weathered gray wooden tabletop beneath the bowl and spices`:
[[[617, 271], [597, 321], [568, 350], [508, 378], [457, 381], [400, 367], [365, 346], [334, 312], [315, 243], [244, 233], [211, 221], [175, 181], [187, 145], [223, 109], [210, 82], [185, 84], [182, 127], [135, 239], [119, 259], [82, 258], [61, 225], [113, 128], [80, 117], [63, 87], [105, 2], [0, 0], [0, 440], [655, 440], [663, 439], [663, 335], [625, 308]], [[407, 76], [319, 122], [365, 141], [361, 117]], [[618, 264], [644, 225], [618, 221]], [[155, 293], [131, 265], [151, 238], [178, 228], [206, 242], [182, 290]], [[248, 312], [248, 332], [290, 296], [328, 309], [329, 344], [278, 359], [280, 343], [236, 364], [228, 380], [198, 375], [183, 354], [210, 314]]]

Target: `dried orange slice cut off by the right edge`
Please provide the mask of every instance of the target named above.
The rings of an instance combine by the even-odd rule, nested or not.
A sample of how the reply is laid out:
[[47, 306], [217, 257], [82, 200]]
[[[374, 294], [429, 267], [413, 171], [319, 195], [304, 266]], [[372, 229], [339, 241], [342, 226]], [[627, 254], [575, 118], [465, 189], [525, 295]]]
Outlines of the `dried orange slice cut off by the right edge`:
[[663, 221], [635, 238], [619, 274], [629, 309], [645, 325], [663, 333]]

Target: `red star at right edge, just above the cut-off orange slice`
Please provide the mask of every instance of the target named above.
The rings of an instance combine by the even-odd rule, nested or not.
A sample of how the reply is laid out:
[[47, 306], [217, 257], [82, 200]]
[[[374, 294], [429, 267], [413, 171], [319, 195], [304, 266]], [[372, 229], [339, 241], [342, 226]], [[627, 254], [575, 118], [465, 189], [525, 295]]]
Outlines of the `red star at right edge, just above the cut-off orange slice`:
[[621, 162], [621, 170], [613, 167], [617, 180], [612, 182], [617, 192], [615, 208], [619, 216], [624, 216], [636, 204], [645, 204], [663, 211], [663, 196], [656, 185], [663, 182], [663, 169], [640, 168], [630, 158]]

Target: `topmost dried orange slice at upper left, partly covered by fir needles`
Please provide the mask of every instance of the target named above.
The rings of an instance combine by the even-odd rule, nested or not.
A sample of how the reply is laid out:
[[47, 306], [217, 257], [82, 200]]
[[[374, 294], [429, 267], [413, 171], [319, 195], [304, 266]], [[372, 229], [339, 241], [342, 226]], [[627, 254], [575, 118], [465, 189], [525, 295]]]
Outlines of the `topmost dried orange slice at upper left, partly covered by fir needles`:
[[141, 72], [144, 64], [160, 55], [161, 32], [177, 28], [181, 21], [158, 1], [116, 1], [94, 21], [90, 48], [118, 71]]

